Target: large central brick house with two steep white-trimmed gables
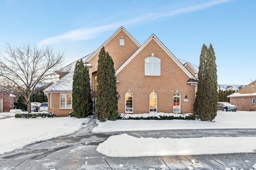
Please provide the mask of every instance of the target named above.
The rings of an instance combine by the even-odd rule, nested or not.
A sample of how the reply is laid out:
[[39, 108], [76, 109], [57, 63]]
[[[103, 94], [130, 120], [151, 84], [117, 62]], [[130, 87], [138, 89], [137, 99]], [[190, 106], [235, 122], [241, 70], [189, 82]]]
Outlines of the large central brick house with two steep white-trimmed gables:
[[[104, 46], [114, 61], [119, 113], [193, 113], [196, 85], [190, 72], [153, 34], [140, 45], [120, 27], [96, 51], [82, 58], [89, 68], [92, 98], [96, 103], [98, 55]], [[48, 93], [48, 111], [67, 116], [72, 111], [72, 72], [63, 76], [69, 82], [55, 83]], [[96, 109], [94, 108], [94, 113]]]

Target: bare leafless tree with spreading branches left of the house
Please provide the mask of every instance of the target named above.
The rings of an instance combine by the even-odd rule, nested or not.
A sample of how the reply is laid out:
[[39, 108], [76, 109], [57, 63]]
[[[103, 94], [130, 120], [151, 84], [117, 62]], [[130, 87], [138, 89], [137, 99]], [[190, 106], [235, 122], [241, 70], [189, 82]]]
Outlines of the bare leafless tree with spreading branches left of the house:
[[7, 43], [5, 48], [0, 52], [0, 86], [24, 96], [23, 102], [31, 113], [30, 100], [35, 88], [58, 78], [56, 71], [62, 67], [64, 53], [30, 44], [11, 47]]

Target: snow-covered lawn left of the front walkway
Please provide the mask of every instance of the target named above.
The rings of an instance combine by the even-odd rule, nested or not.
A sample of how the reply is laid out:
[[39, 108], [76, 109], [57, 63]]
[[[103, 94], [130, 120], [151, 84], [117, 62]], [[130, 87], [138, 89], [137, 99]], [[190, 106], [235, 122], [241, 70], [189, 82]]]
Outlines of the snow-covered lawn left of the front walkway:
[[[0, 113], [0, 117], [14, 116], [21, 112], [19, 109]], [[34, 112], [32, 112], [34, 113]], [[53, 118], [7, 118], [0, 119], [0, 154], [21, 149], [25, 145], [36, 141], [44, 141], [54, 137], [68, 135], [82, 127], [82, 123], [89, 119], [74, 117]]]

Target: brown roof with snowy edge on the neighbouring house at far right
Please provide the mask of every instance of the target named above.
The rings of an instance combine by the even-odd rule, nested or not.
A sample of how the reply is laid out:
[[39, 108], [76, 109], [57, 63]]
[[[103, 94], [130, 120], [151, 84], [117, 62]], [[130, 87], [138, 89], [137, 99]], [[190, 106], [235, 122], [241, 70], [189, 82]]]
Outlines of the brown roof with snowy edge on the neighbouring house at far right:
[[228, 98], [256, 96], [256, 80], [227, 96]]

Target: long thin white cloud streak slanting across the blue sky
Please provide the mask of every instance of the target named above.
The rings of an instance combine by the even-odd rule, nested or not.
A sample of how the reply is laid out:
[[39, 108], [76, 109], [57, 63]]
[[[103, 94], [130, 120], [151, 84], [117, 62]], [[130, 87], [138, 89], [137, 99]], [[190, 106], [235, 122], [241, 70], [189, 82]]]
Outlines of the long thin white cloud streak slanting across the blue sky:
[[120, 23], [114, 23], [111, 25], [105, 25], [102, 27], [93, 27], [93, 28], [81, 28], [76, 29], [72, 31], [68, 31], [67, 33], [64, 33], [62, 35], [58, 35], [56, 37], [51, 37], [48, 39], [44, 39], [39, 43], [39, 45], [45, 45], [45, 44], [53, 44], [53, 43], [61, 43], [63, 41], [77, 41], [77, 40], [86, 40], [91, 39], [97, 36], [98, 33], [104, 32], [106, 30], [114, 29], [116, 27], [120, 27], [121, 25], [132, 25], [136, 23], [142, 23], [142, 22], [148, 22], [153, 21], [158, 18], [168, 17], [168, 16], [174, 16], [177, 14], [187, 13], [187, 12], [193, 12], [197, 10], [203, 10], [205, 8], [209, 8], [210, 6], [214, 6], [217, 4], [223, 4], [226, 2], [230, 2], [232, 0], [215, 0], [210, 2], [205, 2], [202, 4], [198, 4], [195, 6], [190, 6], [186, 8], [180, 8], [178, 10], [172, 10], [165, 13], [149, 13], [145, 14], [143, 16], [140, 16], [138, 18], [133, 18], [131, 20], [123, 21]]

